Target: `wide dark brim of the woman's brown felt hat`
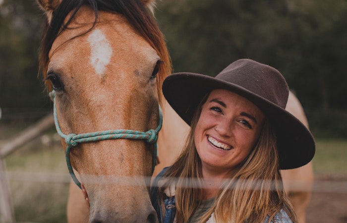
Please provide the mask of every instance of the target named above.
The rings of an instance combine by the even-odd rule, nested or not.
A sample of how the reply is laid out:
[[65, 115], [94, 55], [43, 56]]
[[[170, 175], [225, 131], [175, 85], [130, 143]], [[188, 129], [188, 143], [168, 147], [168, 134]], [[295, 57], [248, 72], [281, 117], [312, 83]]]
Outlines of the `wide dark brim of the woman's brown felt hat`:
[[276, 136], [281, 169], [302, 167], [315, 154], [310, 131], [291, 113], [253, 92], [230, 82], [203, 74], [175, 73], [163, 83], [163, 93], [174, 111], [188, 124], [202, 98], [214, 89], [226, 89], [248, 99], [269, 118]]

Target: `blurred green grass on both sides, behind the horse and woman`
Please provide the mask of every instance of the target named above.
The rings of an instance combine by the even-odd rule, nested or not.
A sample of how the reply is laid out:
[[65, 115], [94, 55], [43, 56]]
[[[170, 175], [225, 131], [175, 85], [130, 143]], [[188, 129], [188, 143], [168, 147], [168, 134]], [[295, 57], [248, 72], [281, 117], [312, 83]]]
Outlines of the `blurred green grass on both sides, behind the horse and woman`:
[[[51, 133], [52, 134], [52, 133]], [[17, 222], [64, 223], [69, 175], [59, 141], [37, 139], [5, 159]], [[347, 175], [347, 140], [316, 139], [315, 174]], [[53, 182], [47, 182], [47, 178]], [[58, 183], [59, 181], [60, 183]]]

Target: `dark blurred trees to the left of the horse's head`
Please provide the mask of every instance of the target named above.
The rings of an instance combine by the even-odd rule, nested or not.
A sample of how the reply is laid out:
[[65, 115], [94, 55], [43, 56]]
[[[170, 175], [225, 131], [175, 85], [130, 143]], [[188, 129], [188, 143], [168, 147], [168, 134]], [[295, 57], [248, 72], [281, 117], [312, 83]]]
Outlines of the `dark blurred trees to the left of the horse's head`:
[[0, 5], [0, 107], [49, 106], [38, 74], [42, 12], [35, 0]]

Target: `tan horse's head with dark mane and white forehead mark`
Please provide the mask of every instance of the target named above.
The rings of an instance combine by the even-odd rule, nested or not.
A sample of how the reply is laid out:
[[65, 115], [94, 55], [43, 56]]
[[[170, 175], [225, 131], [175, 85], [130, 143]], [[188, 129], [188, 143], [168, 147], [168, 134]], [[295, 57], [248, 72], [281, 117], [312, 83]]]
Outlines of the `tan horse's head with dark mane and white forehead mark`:
[[[151, 136], [149, 130], [158, 128], [161, 85], [171, 63], [149, 13], [153, 2], [38, 3], [47, 15], [40, 67], [53, 92], [57, 129], [66, 136], [61, 143], [68, 165], [78, 171], [89, 196], [86, 218], [157, 222], [148, 192], [155, 143], [136, 140], [136, 135], [115, 139], [100, 133], [135, 130]], [[92, 137], [88, 133], [97, 141], [74, 137]]]

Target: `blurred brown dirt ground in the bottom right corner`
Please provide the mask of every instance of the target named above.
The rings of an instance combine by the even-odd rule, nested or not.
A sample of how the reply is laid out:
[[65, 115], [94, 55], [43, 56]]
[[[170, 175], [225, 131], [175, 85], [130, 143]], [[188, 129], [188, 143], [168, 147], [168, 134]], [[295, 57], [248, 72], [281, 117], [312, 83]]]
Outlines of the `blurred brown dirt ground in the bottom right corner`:
[[306, 213], [306, 223], [347, 223], [347, 177], [315, 179]]

